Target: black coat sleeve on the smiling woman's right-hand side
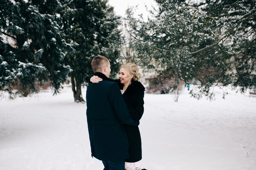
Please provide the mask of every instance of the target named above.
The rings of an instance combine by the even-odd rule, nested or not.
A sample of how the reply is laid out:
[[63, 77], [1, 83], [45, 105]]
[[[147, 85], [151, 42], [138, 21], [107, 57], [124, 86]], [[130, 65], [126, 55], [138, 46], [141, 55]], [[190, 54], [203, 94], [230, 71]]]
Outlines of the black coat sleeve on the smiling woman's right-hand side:
[[133, 120], [139, 121], [144, 113], [144, 91], [138, 93], [134, 104], [128, 106], [129, 113]]

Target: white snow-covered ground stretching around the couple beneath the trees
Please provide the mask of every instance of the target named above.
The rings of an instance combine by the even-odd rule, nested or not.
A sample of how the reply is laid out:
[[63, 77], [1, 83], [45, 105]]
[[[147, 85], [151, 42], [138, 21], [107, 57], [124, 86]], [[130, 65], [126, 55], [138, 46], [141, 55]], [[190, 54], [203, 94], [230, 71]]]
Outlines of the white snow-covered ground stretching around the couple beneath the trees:
[[[86, 89], [83, 89], [85, 97]], [[148, 170], [256, 170], [256, 97], [146, 94], [139, 126]], [[86, 104], [72, 90], [0, 101], [0, 170], [102, 170], [90, 157]]]

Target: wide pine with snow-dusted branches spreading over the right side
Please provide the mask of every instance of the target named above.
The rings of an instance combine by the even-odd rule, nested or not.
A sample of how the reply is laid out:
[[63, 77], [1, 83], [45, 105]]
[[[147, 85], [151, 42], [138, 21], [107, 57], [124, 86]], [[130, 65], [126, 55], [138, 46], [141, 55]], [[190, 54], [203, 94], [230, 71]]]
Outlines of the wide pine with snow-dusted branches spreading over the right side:
[[197, 98], [212, 99], [214, 86], [255, 90], [255, 1], [156, 2], [148, 21], [127, 11], [141, 64], [177, 82], [199, 79]]

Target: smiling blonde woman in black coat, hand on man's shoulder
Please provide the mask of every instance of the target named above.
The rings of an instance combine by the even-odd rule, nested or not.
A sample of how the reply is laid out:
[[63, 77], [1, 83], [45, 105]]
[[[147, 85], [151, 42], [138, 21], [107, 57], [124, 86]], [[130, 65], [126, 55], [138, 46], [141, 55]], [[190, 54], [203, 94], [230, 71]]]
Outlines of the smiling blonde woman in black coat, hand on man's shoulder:
[[[121, 89], [124, 100], [132, 119], [139, 121], [144, 112], [144, 86], [138, 82], [140, 78], [139, 68], [136, 64], [125, 64], [119, 71], [119, 79], [115, 80]], [[99, 77], [93, 76], [91, 82], [101, 81]], [[123, 124], [129, 141], [129, 155], [125, 160], [126, 170], [142, 170], [141, 136], [138, 126]], [[143, 169], [145, 170], [145, 169]]]

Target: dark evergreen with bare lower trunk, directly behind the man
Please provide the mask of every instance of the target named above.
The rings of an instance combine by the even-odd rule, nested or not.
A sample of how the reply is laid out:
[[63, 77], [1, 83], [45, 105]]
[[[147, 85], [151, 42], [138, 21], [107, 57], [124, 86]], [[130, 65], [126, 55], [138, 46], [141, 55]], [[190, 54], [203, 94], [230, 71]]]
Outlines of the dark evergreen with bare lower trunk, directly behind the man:
[[93, 75], [92, 58], [97, 55], [108, 57], [111, 72], [119, 69], [121, 33], [120, 18], [107, 0], [62, 0], [62, 35], [74, 46], [65, 62], [71, 66], [70, 73], [75, 102], [83, 102], [81, 86], [88, 75]]

